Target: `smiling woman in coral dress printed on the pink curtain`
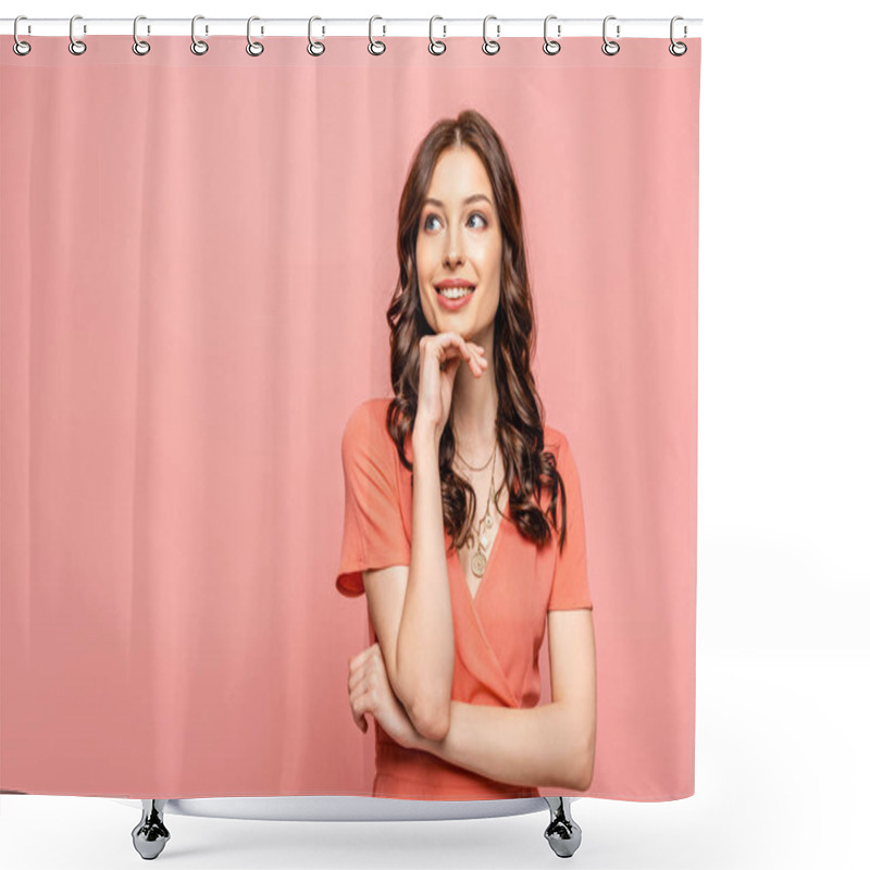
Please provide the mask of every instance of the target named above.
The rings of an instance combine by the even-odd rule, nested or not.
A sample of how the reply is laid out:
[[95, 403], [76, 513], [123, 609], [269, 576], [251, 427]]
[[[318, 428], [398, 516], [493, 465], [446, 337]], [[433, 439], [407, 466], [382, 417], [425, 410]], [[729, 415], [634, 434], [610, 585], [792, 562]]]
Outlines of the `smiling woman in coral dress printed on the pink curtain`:
[[[395, 397], [356, 408], [341, 442], [336, 586], [369, 602], [374, 643], [349, 661], [348, 693], [357, 725], [375, 722], [373, 795], [584, 791], [596, 683], [580, 480], [542, 423], [517, 183], [477, 112], [419, 146], [398, 253]], [[538, 706], [545, 622], [552, 703]]]

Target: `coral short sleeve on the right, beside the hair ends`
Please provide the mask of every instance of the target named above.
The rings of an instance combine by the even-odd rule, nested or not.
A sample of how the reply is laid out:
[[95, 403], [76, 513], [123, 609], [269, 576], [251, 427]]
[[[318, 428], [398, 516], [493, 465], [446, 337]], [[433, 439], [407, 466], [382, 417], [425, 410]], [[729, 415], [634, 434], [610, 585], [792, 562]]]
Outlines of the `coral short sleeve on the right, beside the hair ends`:
[[[583, 495], [580, 475], [571, 452], [568, 438], [562, 435], [556, 467], [564, 485], [568, 527], [562, 551], [559, 552], [558, 533], [556, 544], [556, 566], [552, 572], [552, 586], [547, 610], [592, 610], [592, 597], [586, 573], [586, 525], [583, 517]], [[557, 511], [561, 511], [561, 498], [557, 499]], [[561, 523], [561, 517], [557, 514]], [[561, 531], [561, 525], [559, 526]]]

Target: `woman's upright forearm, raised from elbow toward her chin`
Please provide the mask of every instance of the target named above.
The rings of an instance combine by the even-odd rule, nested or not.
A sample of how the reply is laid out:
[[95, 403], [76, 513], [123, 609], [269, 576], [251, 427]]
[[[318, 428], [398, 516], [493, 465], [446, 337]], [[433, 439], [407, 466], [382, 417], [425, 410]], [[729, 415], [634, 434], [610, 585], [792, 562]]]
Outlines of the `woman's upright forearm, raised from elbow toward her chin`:
[[414, 728], [440, 738], [449, 726], [453, 619], [436, 434], [414, 430], [413, 450], [411, 562], [396, 646], [397, 695]]

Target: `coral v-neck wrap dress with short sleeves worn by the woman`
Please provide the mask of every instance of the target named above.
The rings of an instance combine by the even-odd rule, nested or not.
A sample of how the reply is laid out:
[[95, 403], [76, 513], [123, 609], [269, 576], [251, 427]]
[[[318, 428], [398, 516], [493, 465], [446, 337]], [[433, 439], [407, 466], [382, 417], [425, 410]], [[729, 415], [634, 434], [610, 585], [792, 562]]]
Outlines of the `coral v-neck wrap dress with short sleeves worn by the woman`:
[[[389, 399], [368, 399], [351, 413], [341, 437], [345, 518], [335, 585], [341, 595], [364, 593], [362, 572], [411, 561], [411, 472], [399, 461], [387, 428]], [[568, 439], [544, 426], [544, 449], [556, 457], [566, 489], [568, 529], [538, 548], [522, 536], [505, 509], [486, 570], [472, 597], [459, 554], [444, 532], [453, 618], [451, 698], [467, 704], [535, 707], [540, 698], [540, 649], [549, 610], [592, 609], [586, 574], [583, 500]], [[413, 462], [413, 444], [406, 438]], [[542, 508], [549, 505], [549, 489]], [[561, 524], [561, 506], [557, 504]], [[560, 526], [561, 527], [561, 526]], [[369, 638], [375, 632], [369, 614]], [[475, 800], [540, 797], [533, 786], [495, 782], [419, 749], [406, 749], [375, 721], [374, 797]]]

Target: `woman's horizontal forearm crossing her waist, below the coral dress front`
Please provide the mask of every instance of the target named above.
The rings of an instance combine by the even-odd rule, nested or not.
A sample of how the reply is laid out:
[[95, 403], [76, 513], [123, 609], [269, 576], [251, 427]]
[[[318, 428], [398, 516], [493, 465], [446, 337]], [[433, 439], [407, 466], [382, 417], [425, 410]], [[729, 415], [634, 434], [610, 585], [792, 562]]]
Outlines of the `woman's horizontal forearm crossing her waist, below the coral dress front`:
[[421, 737], [414, 748], [496, 782], [584, 791], [592, 779], [595, 735], [560, 704], [514, 709], [450, 703], [443, 741]]

